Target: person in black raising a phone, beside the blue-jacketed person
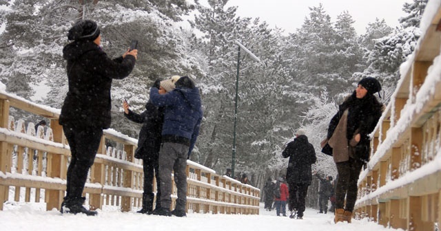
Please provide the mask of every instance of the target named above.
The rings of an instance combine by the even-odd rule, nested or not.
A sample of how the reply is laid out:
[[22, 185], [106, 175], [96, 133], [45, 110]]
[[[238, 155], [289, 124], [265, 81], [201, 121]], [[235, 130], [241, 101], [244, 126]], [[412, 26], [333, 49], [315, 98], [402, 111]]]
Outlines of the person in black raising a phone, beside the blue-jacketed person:
[[[159, 87], [159, 94], [165, 94], [174, 89], [172, 80], [163, 80]], [[164, 122], [164, 108], [156, 107], [152, 102], [145, 104], [145, 111], [138, 114], [129, 109], [127, 101], [123, 102], [124, 115], [127, 119], [143, 124], [139, 131], [138, 148], [135, 151], [136, 159], [143, 159], [144, 192], [143, 208], [139, 213], [153, 213], [153, 177], [156, 177], [156, 208], [161, 208], [161, 179], [159, 179], [159, 148], [161, 146], [161, 131]]]

